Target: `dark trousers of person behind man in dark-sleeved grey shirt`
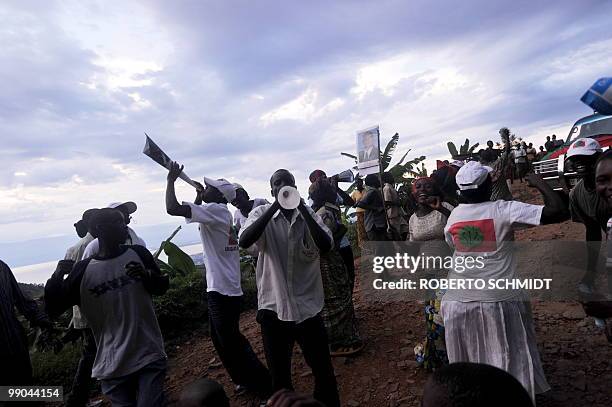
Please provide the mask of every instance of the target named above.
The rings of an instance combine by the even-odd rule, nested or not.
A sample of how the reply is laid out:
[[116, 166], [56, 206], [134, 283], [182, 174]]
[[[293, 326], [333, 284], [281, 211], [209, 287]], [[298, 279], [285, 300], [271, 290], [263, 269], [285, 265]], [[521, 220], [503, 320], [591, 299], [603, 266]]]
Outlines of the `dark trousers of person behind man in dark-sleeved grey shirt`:
[[66, 396], [66, 407], [84, 407], [89, 401], [89, 387], [93, 379], [91, 369], [96, 360], [96, 340], [91, 329], [80, 329], [83, 345], [81, 358], [77, 367], [76, 374], [72, 380], [72, 390]]

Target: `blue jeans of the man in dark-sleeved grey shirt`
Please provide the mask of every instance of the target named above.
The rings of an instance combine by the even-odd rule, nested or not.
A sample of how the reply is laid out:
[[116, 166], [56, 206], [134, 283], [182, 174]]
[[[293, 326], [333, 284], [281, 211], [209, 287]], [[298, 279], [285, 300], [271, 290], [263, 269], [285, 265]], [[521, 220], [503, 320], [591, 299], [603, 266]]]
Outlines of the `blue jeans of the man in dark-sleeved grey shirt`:
[[101, 380], [102, 393], [113, 407], [165, 406], [166, 368], [166, 359], [160, 359], [127, 376]]

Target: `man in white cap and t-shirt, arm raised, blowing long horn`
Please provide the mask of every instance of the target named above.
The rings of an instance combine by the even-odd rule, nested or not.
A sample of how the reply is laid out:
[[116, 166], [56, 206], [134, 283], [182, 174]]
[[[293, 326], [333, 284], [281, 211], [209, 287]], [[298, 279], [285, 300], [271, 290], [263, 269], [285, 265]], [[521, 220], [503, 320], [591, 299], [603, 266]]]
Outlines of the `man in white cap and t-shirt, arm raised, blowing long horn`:
[[[268, 370], [259, 361], [249, 341], [240, 333], [240, 253], [232, 214], [227, 203], [236, 198], [230, 182], [204, 178], [206, 188], [198, 184], [195, 203], [179, 204], [174, 182], [183, 167], [172, 163], [166, 187], [166, 210], [187, 223], [198, 223], [206, 254], [206, 298], [213, 345], [232, 381], [259, 395], [271, 395]], [[204, 202], [200, 205], [201, 202]]]

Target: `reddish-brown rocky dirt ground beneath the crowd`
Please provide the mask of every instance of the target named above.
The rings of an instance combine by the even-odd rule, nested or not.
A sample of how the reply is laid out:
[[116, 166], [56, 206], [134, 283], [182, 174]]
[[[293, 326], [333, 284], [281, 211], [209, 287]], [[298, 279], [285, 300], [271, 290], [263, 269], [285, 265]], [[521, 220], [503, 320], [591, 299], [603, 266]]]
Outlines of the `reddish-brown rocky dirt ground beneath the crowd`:
[[[519, 200], [537, 202], [537, 195], [525, 185], [514, 185]], [[581, 225], [566, 222], [524, 230], [517, 240], [582, 240]], [[333, 360], [342, 404], [357, 406], [419, 406], [427, 373], [417, 367], [413, 347], [423, 340], [423, 307], [417, 302], [376, 303], [355, 290], [355, 311], [364, 351], [354, 358]], [[539, 406], [612, 406], [612, 345], [573, 301], [533, 302], [536, 332], [544, 369], [552, 390], [538, 397]], [[255, 311], [241, 317], [242, 332], [264, 360]], [[257, 405], [247, 396], [236, 396], [228, 375], [216, 357], [210, 339], [194, 333], [172, 350], [167, 389], [171, 401], [200, 377], [223, 384], [233, 406]], [[311, 392], [313, 378], [295, 348], [293, 380], [296, 390]]]

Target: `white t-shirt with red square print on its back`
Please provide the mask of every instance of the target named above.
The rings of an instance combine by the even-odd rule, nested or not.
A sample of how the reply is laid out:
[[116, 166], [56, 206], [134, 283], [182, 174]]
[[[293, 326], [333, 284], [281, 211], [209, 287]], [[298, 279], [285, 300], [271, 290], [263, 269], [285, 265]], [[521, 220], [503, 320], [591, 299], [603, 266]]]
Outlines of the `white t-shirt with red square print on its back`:
[[[483, 258], [484, 267], [461, 270], [455, 266], [449, 279], [513, 279], [514, 229], [540, 224], [544, 206], [517, 201], [460, 204], [450, 214], [444, 235], [455, 250], [454, 257]], [[455, 263], [457, 264], [457, 263]], [[448, 290], [447, 301], [504, 301], [516, 298], [520, 290]]]

